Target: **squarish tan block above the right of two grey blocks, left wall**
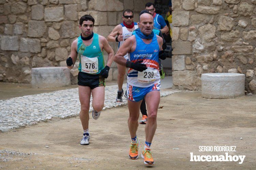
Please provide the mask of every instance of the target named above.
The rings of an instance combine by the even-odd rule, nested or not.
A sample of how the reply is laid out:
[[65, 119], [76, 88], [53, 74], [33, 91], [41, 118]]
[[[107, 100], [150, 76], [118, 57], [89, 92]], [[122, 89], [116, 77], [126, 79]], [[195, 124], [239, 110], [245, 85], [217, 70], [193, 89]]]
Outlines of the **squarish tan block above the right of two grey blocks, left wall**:
[[42, 37], [46, 31], [46, 24], [44, 21], [28, 21], [28, 36]]

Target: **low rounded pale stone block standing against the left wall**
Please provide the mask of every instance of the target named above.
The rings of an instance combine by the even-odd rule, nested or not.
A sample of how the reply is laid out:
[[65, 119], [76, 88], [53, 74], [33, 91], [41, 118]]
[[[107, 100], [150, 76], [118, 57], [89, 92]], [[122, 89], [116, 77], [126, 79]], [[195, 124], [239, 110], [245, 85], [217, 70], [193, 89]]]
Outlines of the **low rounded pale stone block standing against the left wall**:
[[32, 68], [32, 88], [69, 86], [70, 70], [66, 67]]

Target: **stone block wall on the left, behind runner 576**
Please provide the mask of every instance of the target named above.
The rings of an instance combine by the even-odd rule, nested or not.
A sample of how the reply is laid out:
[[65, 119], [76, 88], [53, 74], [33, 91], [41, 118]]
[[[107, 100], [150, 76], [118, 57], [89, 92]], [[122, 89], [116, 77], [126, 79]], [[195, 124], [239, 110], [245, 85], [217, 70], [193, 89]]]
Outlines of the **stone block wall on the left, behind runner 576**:
[[[151, 2], [153, 0], [150, 0]], [[135, 12], [148, 0], [0, 0], [0, 81], [30, 83], [31, 68], [65, 66], [71, 43], [80, 35], [79, 18], [91, 14], [93, 31], [107, 37], [121, 22], [122, 11]], [[110, 43], [117, 51], [117, 43]], [[107, 59], [104, 53], [105, 60]], [[77, 65], [77, 64], [76, 64]], [[113, 63], [107, 81], [117, 79]], [[77, 82], [77, 67], [71, 70]]]

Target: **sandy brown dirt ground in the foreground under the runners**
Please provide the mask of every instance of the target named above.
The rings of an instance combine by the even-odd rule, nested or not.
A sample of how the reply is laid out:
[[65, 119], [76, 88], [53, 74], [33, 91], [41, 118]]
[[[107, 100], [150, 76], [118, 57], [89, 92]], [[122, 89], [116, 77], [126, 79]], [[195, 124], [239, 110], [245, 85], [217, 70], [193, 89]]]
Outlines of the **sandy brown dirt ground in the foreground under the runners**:
[[[180, 92], [161, 98], [157, 130], [151, 145], [153, 169], [256, 169], [256, 95], [236, 99], [205, 99], [200, 92]], [[91, 115], [90, 115], [91, 117]], [[79, 117], [53, 119], [0, 133], [0, 169], [146, 169], [141, 157], [128, 158], [130, 136], [127, 106], [108, 109], [90, 119], [90, 145], [79, 144]], [[139, 125], [139, 153], [145, 142]], [[242, 137], [242, 140], [240, 139]], [[230, 155], [246, 155], [244, 162], [190, 162], [199, 146], [236, 146]], [[48, 146], [48, 147], [46, 147]], [[30, 153], [30, 154], [26, 154]], [[3, 162], [3, 159], [7, 160]]]

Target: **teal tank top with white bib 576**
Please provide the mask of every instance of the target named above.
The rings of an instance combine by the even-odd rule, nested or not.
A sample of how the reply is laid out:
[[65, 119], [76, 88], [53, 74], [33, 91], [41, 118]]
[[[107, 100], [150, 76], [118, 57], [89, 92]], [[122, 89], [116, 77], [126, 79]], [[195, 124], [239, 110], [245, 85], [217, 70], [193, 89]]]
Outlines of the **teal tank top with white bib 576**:
[[88, 74], [99, 74], [105, 67], [104, 55], [99, 45], [99, 35], [93, 34], [91, 45], [86, 46], [81, 37], [77, 41], [77, 54], [80, 62], [78, 70]]

